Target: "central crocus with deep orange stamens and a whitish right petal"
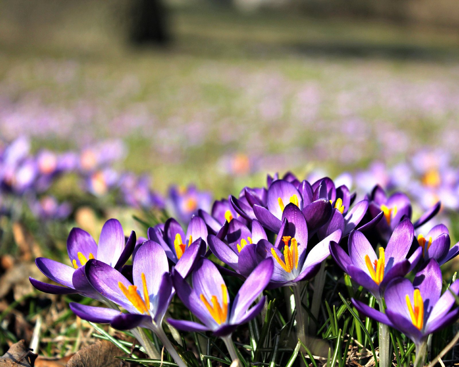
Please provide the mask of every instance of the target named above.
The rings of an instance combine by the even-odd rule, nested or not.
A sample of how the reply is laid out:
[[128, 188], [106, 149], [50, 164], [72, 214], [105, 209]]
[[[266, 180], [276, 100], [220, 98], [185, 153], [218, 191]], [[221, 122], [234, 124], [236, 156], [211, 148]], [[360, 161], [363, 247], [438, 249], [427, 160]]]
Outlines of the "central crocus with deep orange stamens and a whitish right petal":
[[306, 219], [297, 205], [290, 203], [285, 206], [274, 246], [264, 239], [257, 244], [258, 256], [274, 259], [270, 287], [295, 285], [301, 280], [312, 278], [319, 270], [320, 263], [330, 255], [330, 241], [339, 242], [340, 239], [341, 229], [337, 229], [315, 245], [306, 256], [308, 247]]

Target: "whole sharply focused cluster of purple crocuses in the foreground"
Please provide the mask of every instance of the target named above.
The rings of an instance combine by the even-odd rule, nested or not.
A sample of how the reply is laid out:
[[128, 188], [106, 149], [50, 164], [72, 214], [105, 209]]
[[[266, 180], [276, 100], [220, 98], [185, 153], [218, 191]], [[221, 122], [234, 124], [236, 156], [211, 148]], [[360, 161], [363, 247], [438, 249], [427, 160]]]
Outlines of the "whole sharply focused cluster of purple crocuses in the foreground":
[[[184, 195], [183, 200], [193, 194], [176, 191], [176, 195]], [[121, 224], [114, 219], [102, 228], [98, 246], [89, 234], [74, 228], [67, 241], [72, 266], [42, 258], [36, 261], [40, 270], [61, 286], [35, 279], [31, 282], [45, 292], [80, 293], [100, 300], [107, 307], [72, 303], [71, 309], [86, 320], [133, 331], [147, 353], [155, 357], [158, 351], [139, 331], [150, 329], [183, 367], [185, 362], [162, 328], [175, 294], [196, 319], [168, 317], [168, 324], [188, 332], [212, 332], [224, 340], [235, 359], [231, 335], [262, 311], [266, 301], [263, 291], [292, 289], [297, 337], [305, 344], [308, 317], [302, 306], [303, 281], [315, 277], [311, 314], [317, 319], [325, 261], [331, 255], [343, 272], [378, 300], [380, 311], [354, 300], [359, 311], [381, 325], [395, 327], [397, 320], [401, 320], [397, 319], [397, 312], [403, 308], [411, 326], [399, 329], [422, 345], [433, 330], [432, 320], [438, 321], [432, 316], [436, 306], [431, 312], [426, 309], [425, 300], [429, 300], [429, 305], [437, 302], [449, 305], [449, 309], [453, 307], [448, 295], [441, 298], [448, 300], [440, 301], [439, 295], [435, 298], [438, 292], [428, 294], [425, 289], [429, 284], [438, 284], [438, 279], [441, 285], [439, 264], [456, 256], [459, 245], [449, 249], [448, 229], [443, 225], [433, 227], [426, 236], [415, 234], [415, 228], [429, 220], [435, 208], [414, 225], [410, 220], [411, 207], [404, 196], [397, 194], [386, 199], [385, 195], [376, 187], [371, 195], [354, 204], [356, 195], [345, 185], [336, 187], [330, 178], [311, 184], [291, 173], [282, 179], [269, 176], [267, 187], [245, 187], [238, 197], [215, 201], [210, 213], [193, 206], [196, 215], [190, 220], [168, 218], [148, 228], [148, 238], [137, 241], [134, 232], [125, 240]], [[187, 223], [186, 230], [180, 222]], [[384, 240], [381, 228], [390, 228], [384, 232], [389, 234]], [[369, 240], [375, 237], [381, 239], [379, 247]], [[342, 247], [346, 242], [347, 252]], [[131, 254], [132, 265], [125, 265]], [[221, 262], [211, 261], [211, 254]], [[411, 284], [404, 277], [414, 269], [418, 275]], [[244, 280], [234, 298], [222, 275]], [[426, 283], [421, 284], [421, 278]], [[403, 307], [392, 302], [397, 287], [402, 287], [399, 284], [406, 291]], [[455, 284], [451, 289], [457, 293]], [[443, 312], [443, 306], [437, 308]], [[447, 323], [458, 316], [449, 309], [444, 314]], [[380, 344], [380, 361], [386, 367], [389, 349], [384, 343]]]

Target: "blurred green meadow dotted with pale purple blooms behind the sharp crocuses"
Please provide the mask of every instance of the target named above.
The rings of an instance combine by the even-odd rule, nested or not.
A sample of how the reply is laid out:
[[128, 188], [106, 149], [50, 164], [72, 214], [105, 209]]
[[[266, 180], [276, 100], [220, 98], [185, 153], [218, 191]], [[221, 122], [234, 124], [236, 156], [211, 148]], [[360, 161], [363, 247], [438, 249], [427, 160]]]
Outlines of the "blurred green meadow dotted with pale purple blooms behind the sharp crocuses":
[[123, 1], [2, 1], [0, 129], [35, 149], [121, 138], [118, 168], [215, 197], [266, 172], [334, 177], [424, 147], [457, 161], [459, 32], [293, 9], [168, 4], [135, 47]]

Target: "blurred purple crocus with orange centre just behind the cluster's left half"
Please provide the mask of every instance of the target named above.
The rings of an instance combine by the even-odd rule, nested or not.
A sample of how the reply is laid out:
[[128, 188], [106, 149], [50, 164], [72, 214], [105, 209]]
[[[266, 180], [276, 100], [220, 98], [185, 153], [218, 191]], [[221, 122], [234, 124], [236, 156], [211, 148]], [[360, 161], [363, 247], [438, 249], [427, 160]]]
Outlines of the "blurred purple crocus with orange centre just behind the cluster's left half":
[[180, 222], [188, 223], [198, 209], [208, 211], [210, 209], [211, 194], [201, 192], [195, 186], [177, 188], [172, 186], [169, 189], [170, 210], [179, 218]]

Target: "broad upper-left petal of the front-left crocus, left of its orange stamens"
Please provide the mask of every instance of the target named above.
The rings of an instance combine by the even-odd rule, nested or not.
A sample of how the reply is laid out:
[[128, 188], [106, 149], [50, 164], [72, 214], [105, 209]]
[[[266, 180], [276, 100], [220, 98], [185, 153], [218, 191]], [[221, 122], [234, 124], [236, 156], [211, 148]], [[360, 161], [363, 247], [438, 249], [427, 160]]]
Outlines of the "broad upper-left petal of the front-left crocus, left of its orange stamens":
[[115, 302], [116, 304], [124, 307], [127, 311], [132, 313], [138, 313], [139, 311], [129, 302], [123, 291], [119, 288], [118, 283], [129, 288], [132, 285], [128, 279], [124, 278], [123, 275], [112, 268], [105, 262], [92, 259], [87, 262], [85, 266], [86, 278], [88, 278], [90, 284], [97, 290], [101, 295], [107, 299]]

